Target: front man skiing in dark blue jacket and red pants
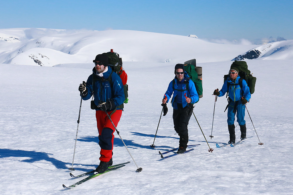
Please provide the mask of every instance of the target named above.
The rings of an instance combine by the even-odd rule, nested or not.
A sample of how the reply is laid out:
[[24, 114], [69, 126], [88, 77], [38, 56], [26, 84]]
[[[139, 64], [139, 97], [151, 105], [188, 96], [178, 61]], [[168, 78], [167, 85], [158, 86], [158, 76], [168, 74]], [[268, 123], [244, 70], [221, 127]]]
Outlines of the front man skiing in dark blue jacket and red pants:
[[[117, 126], [122, 108], [119, 105], [125, 100], [124, 89], [121, 78], [117, 73], [108, 68], [108, 57], [99, 54], [93, 60], [95, 67], [93, 73], [79, 85], [78, 90], [82, 93], [83, 100], [89, 100], [94, 95], [91, 108], [96, 110], [97, 127], [99, 130], [100, 164], [96, 168], [97, 173], [103, 173], [108, 166], [113, 164], [112, 150], [115, 128], [108, 118], [106, 112], [111, 116], [115, 126]], [[106, 112], [105, 112], [106, 111]]]

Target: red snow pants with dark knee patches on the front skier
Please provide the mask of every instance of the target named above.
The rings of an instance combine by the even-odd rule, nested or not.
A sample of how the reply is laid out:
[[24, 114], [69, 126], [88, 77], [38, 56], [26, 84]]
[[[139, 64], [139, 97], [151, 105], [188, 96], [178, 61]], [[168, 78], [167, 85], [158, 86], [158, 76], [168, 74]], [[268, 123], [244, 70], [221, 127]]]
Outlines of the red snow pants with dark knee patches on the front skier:
[[[111, 112], [108, 112], [110, 115]], [[111, 119], [114, 125], [117, 127], [122, 115], [122, 110], [116, 110]], [[115, 128], [104, 111], [96, 110], [97, 127], [99, 131], [99, 145], [101, 147], [99, 158], [100, 161], [109, 162], [112, 158], [112, 150], [114, 143], [114, 131]]]

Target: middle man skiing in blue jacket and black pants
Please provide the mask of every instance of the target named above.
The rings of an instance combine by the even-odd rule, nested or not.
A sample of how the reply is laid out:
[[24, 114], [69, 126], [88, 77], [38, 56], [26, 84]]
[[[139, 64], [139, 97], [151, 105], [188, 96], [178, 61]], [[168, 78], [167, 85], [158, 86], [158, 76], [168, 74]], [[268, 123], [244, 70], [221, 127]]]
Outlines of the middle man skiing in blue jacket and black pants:
[[[194, 83], [184, 71], [183, 64], [176, 64], [175, 78], [170, 82], [162, 103], [168, 103], [173, 94], [171, 104], [173, 107], [174, 129], [178, 133], [179, 149], [177, 153], [184, 153], [188, 143], [187, 125], [193, 111], [193, 103], [199, 100]], [[164, 106], [164, 105], [163, 105]]]

